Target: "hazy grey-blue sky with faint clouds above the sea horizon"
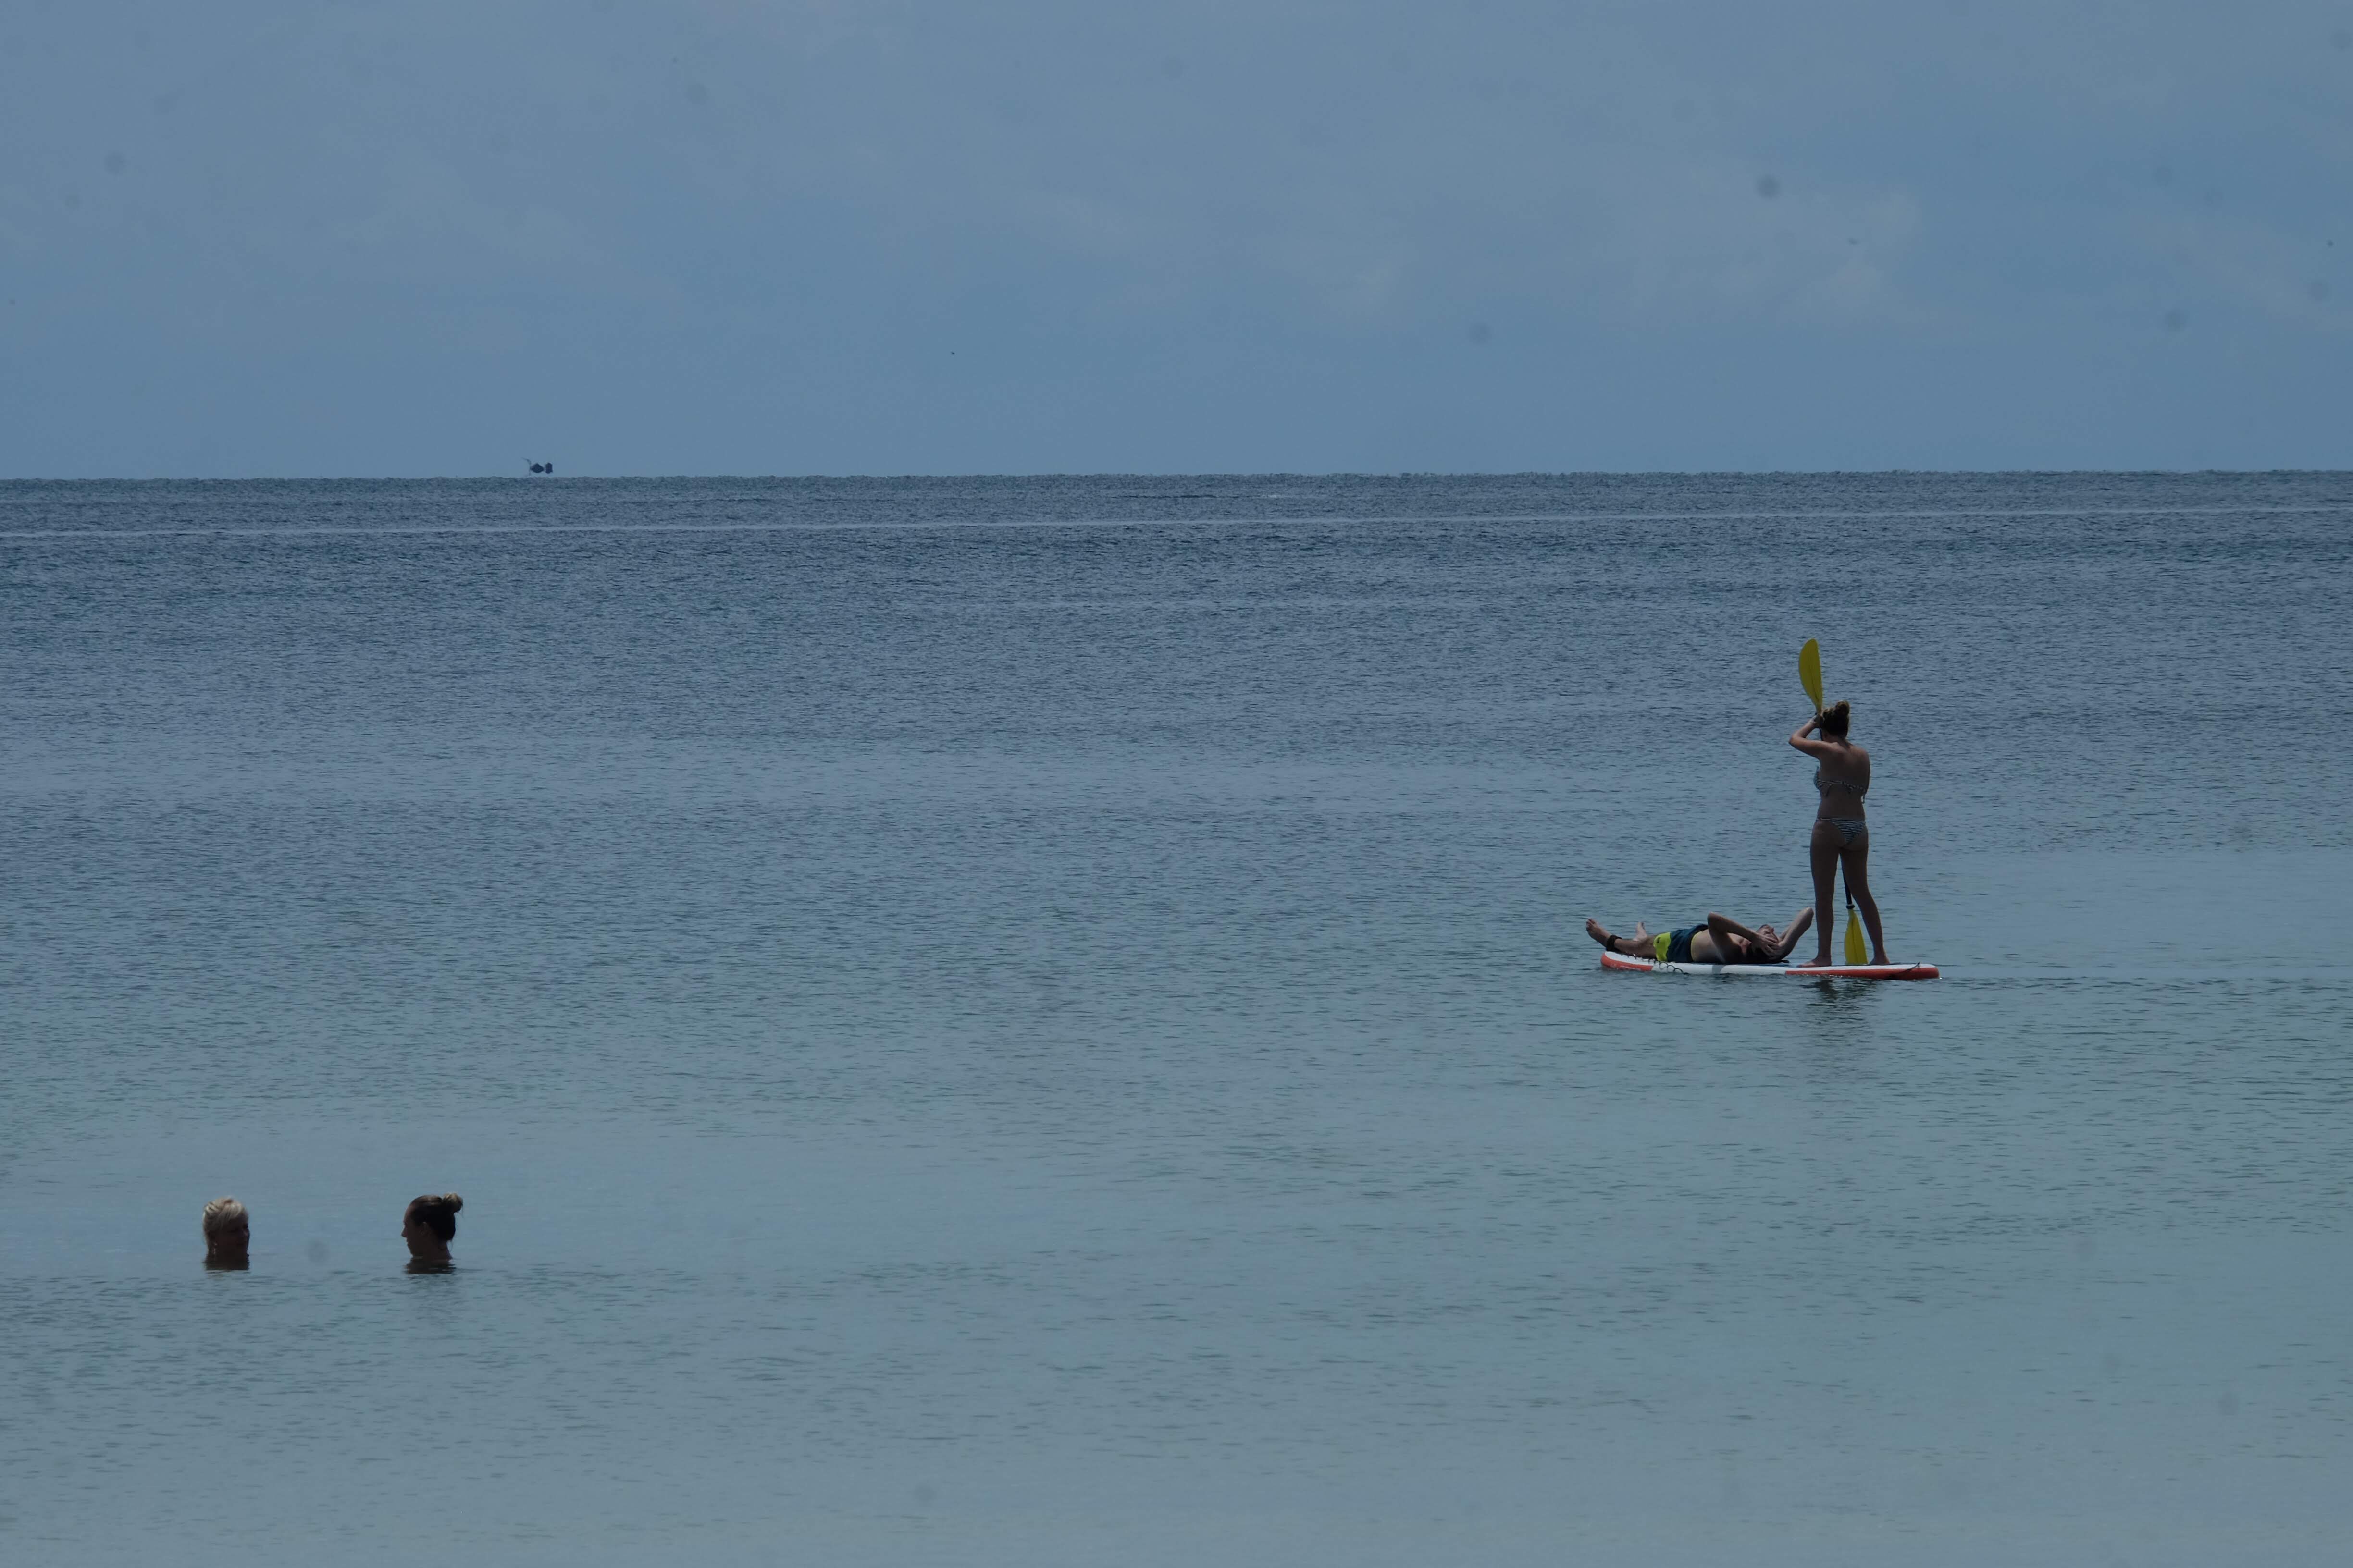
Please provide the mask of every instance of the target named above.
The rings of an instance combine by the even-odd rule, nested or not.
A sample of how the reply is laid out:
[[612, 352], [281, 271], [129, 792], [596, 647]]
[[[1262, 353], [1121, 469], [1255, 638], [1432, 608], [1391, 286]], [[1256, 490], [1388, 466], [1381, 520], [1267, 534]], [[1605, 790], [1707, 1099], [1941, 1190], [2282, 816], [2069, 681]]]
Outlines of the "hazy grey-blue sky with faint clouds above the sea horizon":
[[2353, 0], [0, 2], [0, 477], [2353, 468]]

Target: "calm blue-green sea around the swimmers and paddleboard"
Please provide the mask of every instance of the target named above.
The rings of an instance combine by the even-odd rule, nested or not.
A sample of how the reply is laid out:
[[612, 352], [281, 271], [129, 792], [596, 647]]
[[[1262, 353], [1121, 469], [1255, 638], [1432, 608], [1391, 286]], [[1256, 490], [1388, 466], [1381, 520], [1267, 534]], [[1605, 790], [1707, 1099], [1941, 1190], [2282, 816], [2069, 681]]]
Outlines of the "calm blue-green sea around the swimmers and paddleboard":
[[[1944, 978], [1602, 971], [1807, 637]], [[0, 1559], [2344, 1563], [2348, 764], [2346, 473], [0, 484]]]

